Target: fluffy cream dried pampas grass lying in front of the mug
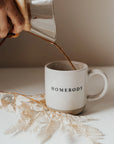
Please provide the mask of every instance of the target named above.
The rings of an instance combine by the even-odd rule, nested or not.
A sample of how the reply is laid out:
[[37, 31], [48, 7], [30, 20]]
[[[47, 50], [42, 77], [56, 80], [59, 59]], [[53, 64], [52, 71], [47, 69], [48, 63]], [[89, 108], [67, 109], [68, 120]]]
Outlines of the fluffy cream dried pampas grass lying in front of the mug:
[[92, 119], [51, 110], [42, 94], [27, 96], [1, 92], [0, 108], [17, 115], [17, 122], [5, 134], [29, 131], [37, 136], [39, 144], [56, 144], [57, 137], [59, 144], [98, 144], [103, 138], [98, 129], [87, 125]]

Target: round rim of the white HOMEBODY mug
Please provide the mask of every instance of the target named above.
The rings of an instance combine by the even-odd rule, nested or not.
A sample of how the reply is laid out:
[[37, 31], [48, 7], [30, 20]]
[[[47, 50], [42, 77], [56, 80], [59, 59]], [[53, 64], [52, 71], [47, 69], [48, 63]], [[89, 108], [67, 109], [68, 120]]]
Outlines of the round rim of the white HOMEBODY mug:
[[59, 69], [53, 69], [53, 68], [49, 67], [51, 64], [58, 63], [58, 62], [68, 62], [68, 61], [67, 60], [52, 61], [52, 62], [45, 64], [45, 68], [52, 70], [52, 71], [58, 71], [58, 72], [80, 72], [80, 71], [84, 71], [84, 70], [88, 69], [88, 65], [86, 63], [75, 61], [75, 60], [72, 60], [71, 62], [76, 63], [76, 64], [82, 64], [83, 67], [80, 69], [76, 69], [76, 70], [74, 70], [74, 69], [72, 69], [72, 70], [59, 70]]

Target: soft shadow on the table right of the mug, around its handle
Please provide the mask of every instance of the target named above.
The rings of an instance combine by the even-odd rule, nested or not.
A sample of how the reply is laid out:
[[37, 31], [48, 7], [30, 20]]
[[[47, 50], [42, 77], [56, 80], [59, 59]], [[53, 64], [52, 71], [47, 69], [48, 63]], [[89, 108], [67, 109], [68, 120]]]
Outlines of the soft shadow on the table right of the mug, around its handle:
[[[97, 101], [94, 102], [88, 102], [83, 115], [90, 115], [90, 114], [94, 114], [94, 113], [100, 113], [103, 111], [108, 111], [109, 109], [114, 109], [114, 67], [110, 67], [107, 69], [101, 69], [101, 70], [105, 70], [105, 73], [107, 74], [108, 77], [108, 91], [106, 93], [106, 95]], [[96, 78], [95, 78], [96, 80]], [[94, 81], [95, 81], [94, 80]], [[98, 86], [100, 86], [101, 82], [98, 81], [96, 82], [98, 85], [95, 85], [95, 87], [98, 88]], [[102, 88], [102, 87], [101, 87]]]

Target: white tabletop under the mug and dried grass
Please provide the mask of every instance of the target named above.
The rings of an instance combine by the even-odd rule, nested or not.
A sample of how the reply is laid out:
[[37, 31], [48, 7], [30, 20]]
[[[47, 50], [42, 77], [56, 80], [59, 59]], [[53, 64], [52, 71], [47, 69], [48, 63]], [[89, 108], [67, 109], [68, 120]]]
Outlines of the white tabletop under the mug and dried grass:
[[[103, 132], [103, 134], [105, 135], [103, 144], [113, 144], [114, 143], [114, 95], [113, 95], [114, 67], [98, 67], [98, 68], [102, 69], [108, 76], [109, 79], [108, 92], [103, 99], [96, 102], [91, 103], [89, 102], [83, 115], [87, 115], [91, 118], [97, 119], [96, 122], [91, 122], [90, 125], [99, 128]], [[100, 90], [102, 87], [101, 79], [97, 78], [94, 81], [90, 82], [89, 86], [90, 93], [91, 92], [95, 93], [98, 89]], [[0, 91], [18, 92], [23, 94], [44, 93], [44, 69], [1, 68]], [[5, 120], [5, 116], [3, 113], [2, 115], [0, 115], [0, 117], [2, 118], [2, 120], [3, 119]], [[26, 143], [26, 141], [21, 142], [21, 144], [24, 143]], [[0, 144], [9, 144], [9, 143], [8, 141], [2, 139]]]

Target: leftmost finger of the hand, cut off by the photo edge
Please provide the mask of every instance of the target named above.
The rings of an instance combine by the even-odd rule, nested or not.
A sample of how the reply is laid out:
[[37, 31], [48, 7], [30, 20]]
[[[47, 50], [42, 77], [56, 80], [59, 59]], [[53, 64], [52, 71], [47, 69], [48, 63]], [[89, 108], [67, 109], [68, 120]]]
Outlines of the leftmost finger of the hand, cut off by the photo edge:
[[0, 38], [4, 38], [7, 36], [9, 31], [9, 24], [7, 21], [7, 14], [5, 13], [4, 9], [0, 8]]

